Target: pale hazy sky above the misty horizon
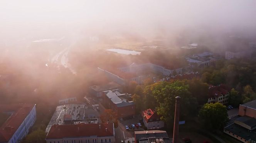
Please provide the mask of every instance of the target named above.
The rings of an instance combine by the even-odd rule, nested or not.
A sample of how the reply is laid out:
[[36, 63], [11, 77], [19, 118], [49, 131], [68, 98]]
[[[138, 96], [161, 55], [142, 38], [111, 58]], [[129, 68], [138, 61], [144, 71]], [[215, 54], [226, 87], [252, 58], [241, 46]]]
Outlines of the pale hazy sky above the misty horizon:
[[0, 0], [2, 30], [256, 29], [256, 0]]

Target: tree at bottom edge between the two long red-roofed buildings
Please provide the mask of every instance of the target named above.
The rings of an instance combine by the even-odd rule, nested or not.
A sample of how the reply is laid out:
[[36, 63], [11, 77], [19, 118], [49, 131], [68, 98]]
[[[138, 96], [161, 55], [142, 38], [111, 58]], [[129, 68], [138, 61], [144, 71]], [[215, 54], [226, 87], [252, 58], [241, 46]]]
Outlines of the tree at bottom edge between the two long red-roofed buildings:
[[45, 131], [38, 129], [32, 131], [29, 135], [27, 135], [26, 138], [22, 141], [22, 143], [46, 143], [45, 137]]

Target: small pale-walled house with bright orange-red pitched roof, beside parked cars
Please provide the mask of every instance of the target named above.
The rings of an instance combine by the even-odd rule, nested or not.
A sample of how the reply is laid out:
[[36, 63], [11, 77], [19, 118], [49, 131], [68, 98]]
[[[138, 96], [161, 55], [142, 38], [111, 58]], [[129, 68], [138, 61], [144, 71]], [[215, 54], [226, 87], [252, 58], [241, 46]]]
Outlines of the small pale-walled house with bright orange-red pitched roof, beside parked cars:
[[148, 130], [159, 129], [165, 126], [165, 123], [160, 120], [160, 116], [152, 109], [142, 111], [142, 117], [143, 123]]

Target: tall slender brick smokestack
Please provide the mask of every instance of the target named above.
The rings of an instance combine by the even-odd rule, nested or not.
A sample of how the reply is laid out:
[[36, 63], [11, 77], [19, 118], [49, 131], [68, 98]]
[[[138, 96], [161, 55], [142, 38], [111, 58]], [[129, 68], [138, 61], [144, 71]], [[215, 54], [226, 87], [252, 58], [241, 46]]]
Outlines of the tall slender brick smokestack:
[[173, 143], [179, 142], [179, 120], [180, 120], [180, 97], [175, 97], [175, 115], [174, 115], [174, 127], [173, 127]]

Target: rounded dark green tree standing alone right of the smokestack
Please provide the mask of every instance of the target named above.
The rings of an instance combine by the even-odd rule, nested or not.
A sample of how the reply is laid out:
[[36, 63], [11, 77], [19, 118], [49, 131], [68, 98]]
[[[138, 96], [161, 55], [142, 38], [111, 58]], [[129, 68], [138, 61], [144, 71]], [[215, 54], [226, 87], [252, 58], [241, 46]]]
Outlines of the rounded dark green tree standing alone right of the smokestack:
[[222, 130], [228, 121], [227, 108], [220, 103], [204, 104], [199, 111], [202, 125], [209, 130]]

